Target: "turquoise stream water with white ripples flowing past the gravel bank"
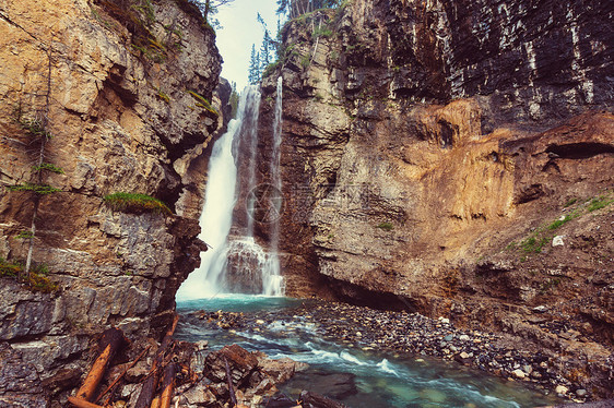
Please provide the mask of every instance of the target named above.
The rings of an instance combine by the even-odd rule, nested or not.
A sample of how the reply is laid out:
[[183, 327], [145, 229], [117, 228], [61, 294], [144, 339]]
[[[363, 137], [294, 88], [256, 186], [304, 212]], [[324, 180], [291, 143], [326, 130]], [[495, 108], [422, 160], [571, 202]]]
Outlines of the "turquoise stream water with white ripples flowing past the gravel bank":
[[423, 356], [401, 356], [359, 346], [323, 340], [317, 323], [293, 316], [288, 308], [299, 300], [262, 296], [221, 296], [177, 305], [179, 313], [196, 310], [279, 311], [279, 319], [260, 322], [249, 329], [205, 329], [180, 323], [176, 337], [208, 340], [213, 349], [236, 343], [273, 359], [290, 357], [309, 369], [297, 373], [281, 388], [297, 398], [302, 389], [333, 397], [350, 407], [465, 407], [511, 408], [553, 404], [534, 389], [470, 370], [456, 362]]

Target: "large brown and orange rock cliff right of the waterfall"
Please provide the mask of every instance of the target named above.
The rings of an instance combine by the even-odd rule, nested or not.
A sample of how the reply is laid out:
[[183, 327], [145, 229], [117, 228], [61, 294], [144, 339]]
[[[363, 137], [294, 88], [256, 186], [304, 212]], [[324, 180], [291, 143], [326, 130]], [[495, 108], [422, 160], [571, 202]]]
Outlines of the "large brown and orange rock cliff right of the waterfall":
[[290, 23], [263, 81], [284, 80], [288, 293], [487, 324], [611, 393], [612, 16], [354, 0]]

